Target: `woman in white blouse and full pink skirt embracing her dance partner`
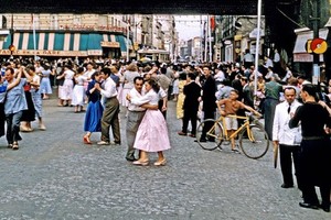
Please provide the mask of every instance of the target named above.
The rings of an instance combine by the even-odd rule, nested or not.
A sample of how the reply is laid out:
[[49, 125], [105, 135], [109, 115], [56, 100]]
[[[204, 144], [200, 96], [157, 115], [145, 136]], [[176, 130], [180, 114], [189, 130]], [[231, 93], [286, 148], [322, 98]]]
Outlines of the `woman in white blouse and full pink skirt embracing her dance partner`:
[[[153, 79], [145, 82], [146, 95], [141, 98], [132, 98], [130, 101], [136, 106], [158, 105], [159, 102], [159, 85]], [[167, 122], [163, 114], [159, 110], [146, 111], [146, 114], [137, 131], [135, 148], [140, 150], [140, 158], [134, 162], [135, 165], [148, 165], [148, 152], [158, 152], [158, 161], [156, 166], [163, 166], [167, 163], [163, 151], [170, 148]]]

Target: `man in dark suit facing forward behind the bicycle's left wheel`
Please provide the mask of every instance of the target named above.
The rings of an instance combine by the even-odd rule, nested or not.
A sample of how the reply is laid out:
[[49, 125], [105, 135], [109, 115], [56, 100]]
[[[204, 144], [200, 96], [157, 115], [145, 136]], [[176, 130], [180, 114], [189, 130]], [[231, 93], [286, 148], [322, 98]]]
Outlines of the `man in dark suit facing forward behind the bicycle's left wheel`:
[[[202, 110], [204, 113], [204, 120], [206, 119], [215, 119], [215, 111], [216, 111], [216, 84], [215, 84], [215, 79], [212, 76], [212, 70], [211, 70], [211, 66], [204, 66], [202, 68], [203, 70], [203, 75], [205, 77], [205, 81], [202, 86], [202, 101], [203, 101], [203, 106], [202, 106]], [[206, 142], [206, 141], [215, 141], [214, 138], [210, 138], [209, 140], [206, 140], [206, 132], [213, 127], [213, 122], [209, 122], [205, 123], [203, 131], [202, 131], [202, 135], [201, 135], [201, 140], [200, 142]]]

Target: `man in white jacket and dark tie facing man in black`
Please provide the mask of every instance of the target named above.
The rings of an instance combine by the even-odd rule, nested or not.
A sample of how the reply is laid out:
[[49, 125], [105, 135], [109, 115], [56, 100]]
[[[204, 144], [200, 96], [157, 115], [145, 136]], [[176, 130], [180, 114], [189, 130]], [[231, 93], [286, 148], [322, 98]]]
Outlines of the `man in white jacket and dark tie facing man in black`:
[[[292, 160], [296, 174], [299, 168], [299, 152], [301, 142], [301, 128], [290, 129], [288, 123], [290, 114], [295, 113], [297, 108], [301, 106], [296, 100], [295, 87], [286, 87], [284, 89], [285, 101], [277, 105], [275, 110], [275, 119], [273, 125], [273, 142], [275, 147], [279, 145], [280, 168], [284, 184], [281, 188], [292, 188]], [[300, 188], [300, 177], [297, 175], [298, 188]]]

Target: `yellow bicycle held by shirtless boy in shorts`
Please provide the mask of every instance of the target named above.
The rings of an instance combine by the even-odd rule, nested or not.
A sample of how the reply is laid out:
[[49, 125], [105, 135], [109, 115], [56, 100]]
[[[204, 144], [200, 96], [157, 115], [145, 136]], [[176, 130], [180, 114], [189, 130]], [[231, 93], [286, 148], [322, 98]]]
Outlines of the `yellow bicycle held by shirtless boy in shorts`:
[[[216, 120], [203, 120], [196, 129], [196, 140], [199, 145], [207, 151], [213, 151], [217, 147], [222, 150], [222, 143], [229, 144], [231, 139], [236, 138], [238, 134], [239, 147], [247, 157], [255, 160], [263, 157], [269, 148], [269, 139], [258, 119], [254, 118], [252, 113], [247, 112], [245, 113], [245, 117], [234, 114], [226, 117], [244, 119], [244, 124], [239, 127], [232, 135], [228, 135], [225, 124], [225, 117], [221, 116]], [[213, 125], [209, 131], [206, 131], [207, 141], [202, 142], [201, 135], [205, 123]]]

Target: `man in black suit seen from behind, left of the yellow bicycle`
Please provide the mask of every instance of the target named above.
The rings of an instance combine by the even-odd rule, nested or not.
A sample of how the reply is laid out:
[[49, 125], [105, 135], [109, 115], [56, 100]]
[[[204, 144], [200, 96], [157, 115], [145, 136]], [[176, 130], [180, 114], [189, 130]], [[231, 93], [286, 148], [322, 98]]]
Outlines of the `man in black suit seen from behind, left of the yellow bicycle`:
[[182, 131], [178, 132], [179, 135], [188, 134], [188, 125], [191, 120], [192, 131], [190, 136], [195, 138], [196, 132], [196, 120], [197, 120], [197, 109], [199, 109], [199, 98], [201, 97], [201, 87], [195, 84], [195, 74], [189, 73], [186, 76], [188, 84], [184, 86], [183, 94], [184, 99], [184, 117], [183, 117], [183, 128]]

